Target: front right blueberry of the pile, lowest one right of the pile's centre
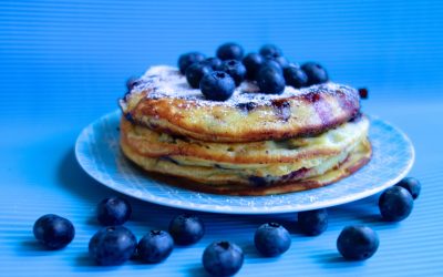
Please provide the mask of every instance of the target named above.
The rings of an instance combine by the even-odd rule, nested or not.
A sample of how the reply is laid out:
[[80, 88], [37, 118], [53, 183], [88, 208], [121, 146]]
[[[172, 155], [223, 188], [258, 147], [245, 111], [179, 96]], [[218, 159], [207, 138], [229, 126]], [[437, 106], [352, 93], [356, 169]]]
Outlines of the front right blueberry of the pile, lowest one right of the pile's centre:
[[272, 66], [264, 66], [258, 71], [257, 83], [262, 93], [281, 93], [285, 90], [285, 78]]

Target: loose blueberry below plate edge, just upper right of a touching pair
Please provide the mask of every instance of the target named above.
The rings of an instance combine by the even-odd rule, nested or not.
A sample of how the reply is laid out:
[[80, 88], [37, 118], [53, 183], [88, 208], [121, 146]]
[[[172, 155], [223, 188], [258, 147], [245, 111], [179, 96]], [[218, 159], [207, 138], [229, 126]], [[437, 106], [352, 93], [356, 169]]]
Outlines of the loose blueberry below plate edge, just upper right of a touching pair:
[[177, 245], [192, 245], [205, 235], [205, 225], [195, 215], [178, 215], [169, 224], [169, 234]]

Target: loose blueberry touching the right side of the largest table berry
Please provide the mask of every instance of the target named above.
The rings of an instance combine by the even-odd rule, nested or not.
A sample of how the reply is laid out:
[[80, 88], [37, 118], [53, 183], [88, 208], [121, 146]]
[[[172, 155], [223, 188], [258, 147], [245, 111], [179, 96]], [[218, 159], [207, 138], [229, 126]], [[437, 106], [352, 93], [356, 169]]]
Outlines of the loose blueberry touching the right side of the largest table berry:
[[137, 245], [138, 257], [150, 264], [157, 264], [169, 257], [174, 240], [167, 232], [151, 230]]

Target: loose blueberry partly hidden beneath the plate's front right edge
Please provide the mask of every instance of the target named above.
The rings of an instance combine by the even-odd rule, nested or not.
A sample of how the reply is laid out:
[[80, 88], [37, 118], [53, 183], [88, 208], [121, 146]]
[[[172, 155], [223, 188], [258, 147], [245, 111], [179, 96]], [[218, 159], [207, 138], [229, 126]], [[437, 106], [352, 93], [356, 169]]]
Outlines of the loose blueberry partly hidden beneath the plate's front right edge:
[[326, 208], [298, 213], [298, 226], [308, 236], [318, 236], [328, 228]]

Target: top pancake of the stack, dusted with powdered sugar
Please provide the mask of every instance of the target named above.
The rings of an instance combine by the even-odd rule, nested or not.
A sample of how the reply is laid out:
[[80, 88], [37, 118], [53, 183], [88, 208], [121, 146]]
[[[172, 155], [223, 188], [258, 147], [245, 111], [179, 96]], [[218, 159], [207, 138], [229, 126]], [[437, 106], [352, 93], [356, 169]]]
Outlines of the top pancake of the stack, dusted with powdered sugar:
[[224, 102], [206, 100], [175, 68], [151, 68], [120, 102], [127, 120], [159, 133], [205, 142], [260, 142], [315, 136], [359, 113], [357, 90], [324, 83], [259, 93], [243, 82]]

